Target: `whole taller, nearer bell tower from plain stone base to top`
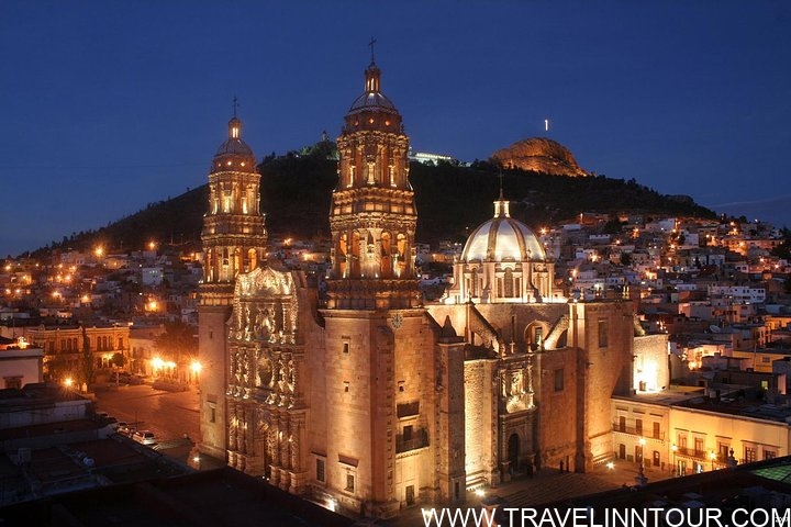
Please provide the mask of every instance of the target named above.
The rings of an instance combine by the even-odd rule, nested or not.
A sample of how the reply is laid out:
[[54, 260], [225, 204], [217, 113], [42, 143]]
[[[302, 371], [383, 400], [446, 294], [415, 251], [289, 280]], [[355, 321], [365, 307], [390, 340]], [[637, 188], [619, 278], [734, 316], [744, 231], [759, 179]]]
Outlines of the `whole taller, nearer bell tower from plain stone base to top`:
[[321, 311], [326, 444], [317, 451], [327, 461], [327, 493], [345, 507], [390, 517], [436, 487], [421, 470], [436, 461], [435, 328], [414, 265], [409, 137], [374, 60], [337, 146], [332, 268]]

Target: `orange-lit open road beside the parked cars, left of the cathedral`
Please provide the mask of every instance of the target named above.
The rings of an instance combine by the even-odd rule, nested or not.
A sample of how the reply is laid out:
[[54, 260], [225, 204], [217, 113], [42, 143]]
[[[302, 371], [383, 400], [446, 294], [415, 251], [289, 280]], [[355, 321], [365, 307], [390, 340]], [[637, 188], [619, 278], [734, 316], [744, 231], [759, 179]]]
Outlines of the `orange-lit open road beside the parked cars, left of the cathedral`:
[[97, 411], [107, 412], [137, 429], [154, 433], [158, 442], [180, 439], [193, 441], [199, 434], [199, 397], [194, 389], [186, 392], [154, 390], [149, 384], [97, 391]]

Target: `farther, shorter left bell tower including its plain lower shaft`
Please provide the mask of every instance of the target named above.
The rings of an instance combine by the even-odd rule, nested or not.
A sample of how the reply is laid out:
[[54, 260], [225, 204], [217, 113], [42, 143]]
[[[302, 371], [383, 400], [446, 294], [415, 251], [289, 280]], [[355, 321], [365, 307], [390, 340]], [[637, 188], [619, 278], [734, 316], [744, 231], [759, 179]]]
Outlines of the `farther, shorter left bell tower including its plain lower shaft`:
[[225, 392], [227, 389], [227, 319], [239, 273], [259, 267], [267, 233], [259, 211], [260, 175], [242, 141], [242, 121], [229, 122], [209, 170], [209, 210], [203, 216], [203, 280], [199, 285], [198, 354], [202, 366], [201, 442], [199, 449], [220, 459], [226, 455]]

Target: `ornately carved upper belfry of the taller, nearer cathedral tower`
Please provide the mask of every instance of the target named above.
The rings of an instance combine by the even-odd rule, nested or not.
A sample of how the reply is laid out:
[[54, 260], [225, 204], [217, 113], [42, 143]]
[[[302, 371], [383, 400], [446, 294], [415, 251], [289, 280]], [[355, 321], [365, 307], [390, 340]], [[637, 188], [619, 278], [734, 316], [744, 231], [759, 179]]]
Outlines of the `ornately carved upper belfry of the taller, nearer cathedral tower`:
[[371, 63], [337, 139], [338, 183], [330, 212], [330, 309], [420, 305], [414, 268], [417, 214], [409, 183], [409, 137]]

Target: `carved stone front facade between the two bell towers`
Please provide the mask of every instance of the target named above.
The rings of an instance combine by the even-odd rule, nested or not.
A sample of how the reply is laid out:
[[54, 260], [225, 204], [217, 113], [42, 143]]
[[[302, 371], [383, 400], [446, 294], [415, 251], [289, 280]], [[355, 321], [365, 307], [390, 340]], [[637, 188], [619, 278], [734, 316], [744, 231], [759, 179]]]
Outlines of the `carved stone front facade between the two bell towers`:
[[302, 274], [259, 268], [236, 280], [229, 332], [227, 460], [304, 492], [305, 354], [298, 330]]

